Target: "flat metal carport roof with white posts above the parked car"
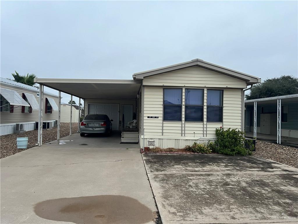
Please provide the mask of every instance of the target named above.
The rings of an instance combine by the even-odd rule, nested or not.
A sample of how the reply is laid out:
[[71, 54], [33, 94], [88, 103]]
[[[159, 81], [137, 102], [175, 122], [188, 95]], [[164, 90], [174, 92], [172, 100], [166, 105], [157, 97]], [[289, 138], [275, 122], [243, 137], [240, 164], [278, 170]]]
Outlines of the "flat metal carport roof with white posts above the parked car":
[[[59, 91], [58, 105], [58, 131], [57, 144], [60, 140], [60, 112], [61, 112], [61, 92], [71, 95], [70, 107], [70, 127], [69, 135], [72, 135], [72, 96], [82, 99], [136, 99], [141, 88], [142, 81], [139, 80], [122, 80], [122, 79], [34, 79], [34, 82], [40, 84], [39, 88], [39, 104], [43, 105], [44, 86]], [[47, 98], [53, 110], [56, 103], [51, 98]], [[85, 101], [84, 101], [85, 103]], [[56, 105], [57, 106], [57, 105]], [[80, 107], [79, 107], [80, 114]], [[43, 107], [39, 107], [38, 116], [38, 145], [42, 145], [42, 122]], [[80, 132], [80, 116], [78, 119], [78, 132]]]

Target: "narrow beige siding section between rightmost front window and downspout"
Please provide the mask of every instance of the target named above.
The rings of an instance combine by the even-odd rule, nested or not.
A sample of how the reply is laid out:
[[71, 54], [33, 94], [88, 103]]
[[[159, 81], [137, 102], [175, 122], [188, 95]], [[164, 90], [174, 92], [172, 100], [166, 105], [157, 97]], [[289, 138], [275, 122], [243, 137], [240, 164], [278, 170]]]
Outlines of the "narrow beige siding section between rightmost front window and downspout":
[[224, 90], [223, 127], [241, 130], [241, 91], [242, 89]]

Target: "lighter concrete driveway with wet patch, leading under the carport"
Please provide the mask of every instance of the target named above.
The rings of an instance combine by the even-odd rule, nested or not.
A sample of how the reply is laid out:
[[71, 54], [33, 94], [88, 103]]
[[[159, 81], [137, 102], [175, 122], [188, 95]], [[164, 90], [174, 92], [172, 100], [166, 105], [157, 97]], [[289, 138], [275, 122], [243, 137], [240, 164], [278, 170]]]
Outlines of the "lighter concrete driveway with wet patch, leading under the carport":
[[139, 145], [119, 135], [63, 139], [73, 141], [1, 159], [1, 223], [153, 223]]

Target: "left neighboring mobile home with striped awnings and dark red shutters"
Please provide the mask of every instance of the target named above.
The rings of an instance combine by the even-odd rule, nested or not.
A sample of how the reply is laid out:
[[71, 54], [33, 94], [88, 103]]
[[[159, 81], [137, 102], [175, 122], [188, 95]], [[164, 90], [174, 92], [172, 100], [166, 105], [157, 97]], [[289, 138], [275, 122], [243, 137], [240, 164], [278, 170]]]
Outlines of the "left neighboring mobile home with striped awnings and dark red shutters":
[[[1, 78], [0, 85], [1, 135], [14, 133], [16, 124], [24, 124], [24, 131], [34, 130], [35, 122], [38, 122], [38, 88], [4, 78]], [[50, 126], [54, 126], [58, 119], [58, 99], [55, 94], [44, 93], [43, 121], [50, 122]]]

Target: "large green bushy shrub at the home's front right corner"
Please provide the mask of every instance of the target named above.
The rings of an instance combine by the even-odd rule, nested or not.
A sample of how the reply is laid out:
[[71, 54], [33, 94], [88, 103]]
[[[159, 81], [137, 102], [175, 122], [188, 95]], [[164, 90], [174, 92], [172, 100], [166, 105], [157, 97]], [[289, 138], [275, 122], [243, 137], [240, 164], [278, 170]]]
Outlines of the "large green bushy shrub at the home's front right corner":
[[240, 154], [243, 156], [251, 155], [252, 148], [244, 147], [244, 132], [238, 129], [217, 128], [215, 131], [217, 140], [215, 140], [215, 151], [220, 154], [235, 156]]

